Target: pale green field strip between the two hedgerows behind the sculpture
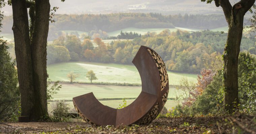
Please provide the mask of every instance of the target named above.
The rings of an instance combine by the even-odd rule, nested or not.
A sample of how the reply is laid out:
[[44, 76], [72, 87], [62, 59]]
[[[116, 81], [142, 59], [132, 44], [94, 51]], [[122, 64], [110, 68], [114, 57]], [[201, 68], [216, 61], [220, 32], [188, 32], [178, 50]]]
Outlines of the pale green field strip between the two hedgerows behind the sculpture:
[[[136, 98], [141, 92], [141, 86], [114, 86], [93, 84], [61, 84], [62, 88], [54, 94], [53, 100], [72, 100], [73, 97], [93, 92], [97, 99], [102, 98]], [[169, 88], [168, 98], [179, 94], [174, 87]]]

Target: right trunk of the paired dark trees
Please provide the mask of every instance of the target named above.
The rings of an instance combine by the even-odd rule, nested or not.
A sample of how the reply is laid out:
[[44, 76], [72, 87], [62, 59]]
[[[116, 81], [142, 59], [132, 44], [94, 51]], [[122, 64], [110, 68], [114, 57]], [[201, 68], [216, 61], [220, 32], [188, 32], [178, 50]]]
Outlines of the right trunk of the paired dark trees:
[[31, 118], [37, 121], [47, 116], [47, 71], [46, 46], [49, 31], [49, 0], [35, 0], [35, 22], [31, 40], [31, 54], [34, 78], [35, 109]]

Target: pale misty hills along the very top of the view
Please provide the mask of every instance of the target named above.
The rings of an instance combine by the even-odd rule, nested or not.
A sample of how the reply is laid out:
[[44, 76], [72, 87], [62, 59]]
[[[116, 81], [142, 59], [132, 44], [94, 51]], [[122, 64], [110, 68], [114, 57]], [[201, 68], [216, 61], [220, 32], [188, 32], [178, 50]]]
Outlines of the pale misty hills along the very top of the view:
[[[233, 5], [237, 0], [230, 0]], [[222, 14], [214, 3], [200, 0], [50, 0], [51, 6], [58, 6], [57, 14], [99, 14], [117, 12], [158, 12], [162, 14]], [[11, 6], [3, 8], [5, 15], [11, 15]]]

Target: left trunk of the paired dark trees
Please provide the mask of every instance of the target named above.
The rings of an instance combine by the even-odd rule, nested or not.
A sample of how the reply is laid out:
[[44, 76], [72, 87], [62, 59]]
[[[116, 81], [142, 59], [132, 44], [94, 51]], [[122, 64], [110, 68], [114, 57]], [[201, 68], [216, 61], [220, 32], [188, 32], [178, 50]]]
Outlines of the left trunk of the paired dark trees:
[[12, 0], [13, 35], [21, 92], [21, 115], [32, 114], [34, 89], [26, 0]]

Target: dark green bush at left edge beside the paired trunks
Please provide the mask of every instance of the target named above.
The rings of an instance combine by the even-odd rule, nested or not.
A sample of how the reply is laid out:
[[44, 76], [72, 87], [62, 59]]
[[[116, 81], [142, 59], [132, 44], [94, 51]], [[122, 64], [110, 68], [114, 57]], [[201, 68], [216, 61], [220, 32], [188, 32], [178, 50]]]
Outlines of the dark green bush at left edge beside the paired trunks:
[[[1, 20], [0, 13], [0, 22]], [[21, 99], [16, 61], [11, 59], [7, 49], [6, 41], [0, 37], [0, 122], [15, 122], [20, 115]]]

